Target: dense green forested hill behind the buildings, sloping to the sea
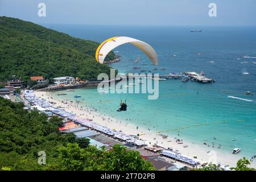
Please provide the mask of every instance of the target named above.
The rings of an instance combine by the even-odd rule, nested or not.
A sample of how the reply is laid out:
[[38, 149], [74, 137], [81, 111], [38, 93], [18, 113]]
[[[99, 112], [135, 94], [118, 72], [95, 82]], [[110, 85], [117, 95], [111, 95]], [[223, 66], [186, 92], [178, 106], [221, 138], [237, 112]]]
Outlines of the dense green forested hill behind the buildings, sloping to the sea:
[[[0, 81], [12, 75], [28, 80], [30, 76], [73, 76], [96, 80], [109, 67], [96, 63], [98, 43], [73, 38], [37, 24], [0, 16]], [[114, 59], [110, 52], [106, 59]]]

